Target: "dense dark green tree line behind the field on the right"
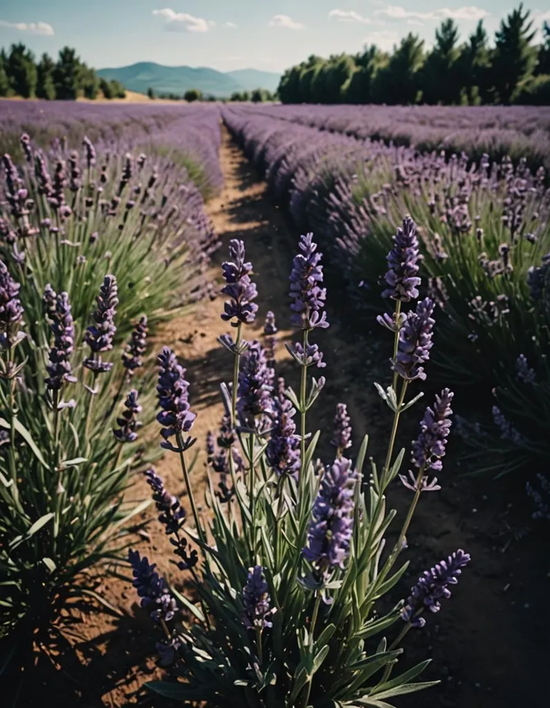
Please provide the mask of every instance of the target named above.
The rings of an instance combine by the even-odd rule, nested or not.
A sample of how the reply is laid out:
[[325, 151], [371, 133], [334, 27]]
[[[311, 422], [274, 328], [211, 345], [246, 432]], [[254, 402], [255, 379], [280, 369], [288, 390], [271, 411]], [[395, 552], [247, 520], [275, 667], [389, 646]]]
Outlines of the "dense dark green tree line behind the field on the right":
[[466, 42], [452, 19], [435, 31], [435, 44], [408, 33], [393, 52], [372, 45], [356, 55], [311, 55], [287, 69], [277, 93], [282, 103], [550, 105], [550, 26], [535, 30], [523, 4], [500, 22], [493, 45], [479, 21]]

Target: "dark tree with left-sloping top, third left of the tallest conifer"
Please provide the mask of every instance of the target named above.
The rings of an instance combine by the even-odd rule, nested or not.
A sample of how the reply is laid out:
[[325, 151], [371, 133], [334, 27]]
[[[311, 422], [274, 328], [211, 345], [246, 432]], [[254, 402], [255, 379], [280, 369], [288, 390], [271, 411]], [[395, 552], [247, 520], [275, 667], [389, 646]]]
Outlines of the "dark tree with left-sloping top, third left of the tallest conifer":
[[424, 40], [408, 33], [394, 50], [386, 67], [379, 69], [372, 82], [372, 102], [416, 103], [420, 98]]

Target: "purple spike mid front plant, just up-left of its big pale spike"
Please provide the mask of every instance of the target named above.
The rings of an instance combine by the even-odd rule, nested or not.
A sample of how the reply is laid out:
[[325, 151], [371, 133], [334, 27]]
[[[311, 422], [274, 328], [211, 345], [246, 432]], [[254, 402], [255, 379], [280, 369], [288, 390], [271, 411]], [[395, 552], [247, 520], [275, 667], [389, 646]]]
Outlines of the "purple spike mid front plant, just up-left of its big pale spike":
[[[279, 379], [278, 383], [279, 389], [282, 387], [284, 390], [285, 380]], [[268, 447], [265, 448], [265, 457], [277, 475], [298, 474], [301, 462], [300, 438], [296, 435], [296, 424], [292, 419], [296, 411], [284, 393], [281, 395], [279, 392], [273, 398], [273, 415], [275, 424]]]

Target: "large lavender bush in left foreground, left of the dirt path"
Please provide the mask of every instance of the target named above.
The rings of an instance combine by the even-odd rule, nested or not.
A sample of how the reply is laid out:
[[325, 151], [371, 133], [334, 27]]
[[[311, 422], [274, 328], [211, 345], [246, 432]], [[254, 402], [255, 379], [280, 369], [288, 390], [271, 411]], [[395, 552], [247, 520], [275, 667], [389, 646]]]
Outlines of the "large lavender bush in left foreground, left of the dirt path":
[[[203, 120], [207, 142], [217, 112]], [[28, 636], [120, 558], [145, 506], [123, 493], [150, 454], [148, 331], [210, 295], [202, 195], [173, 155], [125, 152], [134, 131], [47, 150], [23, 134], [22, 163], [1, 159], [0, 636]]]

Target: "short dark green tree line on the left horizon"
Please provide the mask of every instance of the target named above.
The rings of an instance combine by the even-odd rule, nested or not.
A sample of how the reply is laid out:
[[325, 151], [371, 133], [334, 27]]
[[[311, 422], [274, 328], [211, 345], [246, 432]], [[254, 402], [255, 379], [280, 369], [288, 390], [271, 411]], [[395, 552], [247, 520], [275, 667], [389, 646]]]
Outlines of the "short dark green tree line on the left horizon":
[[23, 98], [55, 98], [74, 101], [76, 98], [125, 98], [120, 81], [107, 81], [96, 74], [76, 55], [76, 50], [63, 47], [57, 62], [43, 54], [40, 60], [24, 44], [13, 44], [0, 51], [0, 96]]

